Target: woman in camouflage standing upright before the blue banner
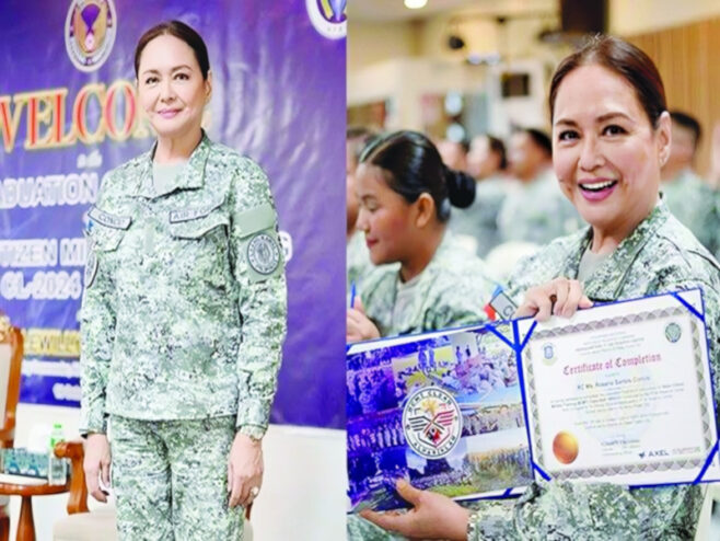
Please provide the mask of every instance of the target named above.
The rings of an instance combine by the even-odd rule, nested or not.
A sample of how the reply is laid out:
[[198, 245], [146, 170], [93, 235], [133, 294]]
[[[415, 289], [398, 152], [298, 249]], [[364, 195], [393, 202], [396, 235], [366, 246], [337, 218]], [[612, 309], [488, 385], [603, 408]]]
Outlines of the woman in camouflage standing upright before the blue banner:
[[263, 481], [286, 281], [267, 177], [200, 128], [202, 38], [172, 21], [135, 57], [153, 149], [89, 212], [81, 311], [88, 490], [113, 488], [124, 540], [236, 540]]

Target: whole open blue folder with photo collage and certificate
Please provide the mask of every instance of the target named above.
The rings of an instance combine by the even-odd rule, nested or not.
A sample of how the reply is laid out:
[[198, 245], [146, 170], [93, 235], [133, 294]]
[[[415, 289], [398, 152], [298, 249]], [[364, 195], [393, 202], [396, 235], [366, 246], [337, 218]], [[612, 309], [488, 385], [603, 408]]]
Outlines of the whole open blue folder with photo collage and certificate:
[[518, 495], [535, 479], [718, 481], [708, 359], [699, 289], [355, 344], [350, 510], [407, 507], [397, 479], [456, 499]]

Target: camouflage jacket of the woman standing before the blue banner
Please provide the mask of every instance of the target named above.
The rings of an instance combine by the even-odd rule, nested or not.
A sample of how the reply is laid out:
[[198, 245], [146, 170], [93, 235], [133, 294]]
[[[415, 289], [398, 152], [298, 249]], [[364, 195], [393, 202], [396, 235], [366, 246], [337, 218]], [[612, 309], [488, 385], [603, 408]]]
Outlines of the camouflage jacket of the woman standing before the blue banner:
[[155, 193], [153, 151], [104, 177], [89, 211], [81, 431], [137, 419], [236, 415], [267, 427], [287, 291], [265, 173], [204, 136]]

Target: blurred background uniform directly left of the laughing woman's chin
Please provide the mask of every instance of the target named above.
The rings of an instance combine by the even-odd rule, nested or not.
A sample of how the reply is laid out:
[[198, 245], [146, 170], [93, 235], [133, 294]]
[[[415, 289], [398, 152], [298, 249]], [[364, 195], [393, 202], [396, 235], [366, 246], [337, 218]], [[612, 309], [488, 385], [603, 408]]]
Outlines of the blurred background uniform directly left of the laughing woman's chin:
[[582, 225], [580, 215], [560, 191], [550, 170], [512, 189], [498, 215], [501, 242], [547, 244], [577, 231]]

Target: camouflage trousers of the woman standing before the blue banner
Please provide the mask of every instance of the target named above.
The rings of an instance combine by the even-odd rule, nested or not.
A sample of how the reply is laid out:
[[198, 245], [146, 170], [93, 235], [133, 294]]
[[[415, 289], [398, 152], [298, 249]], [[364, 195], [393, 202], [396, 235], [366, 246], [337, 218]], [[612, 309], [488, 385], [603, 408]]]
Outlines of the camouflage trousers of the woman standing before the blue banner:
[[242, 539], [244, 510], [228, 507], [234, 416], [111, 423], [120, 540]]

